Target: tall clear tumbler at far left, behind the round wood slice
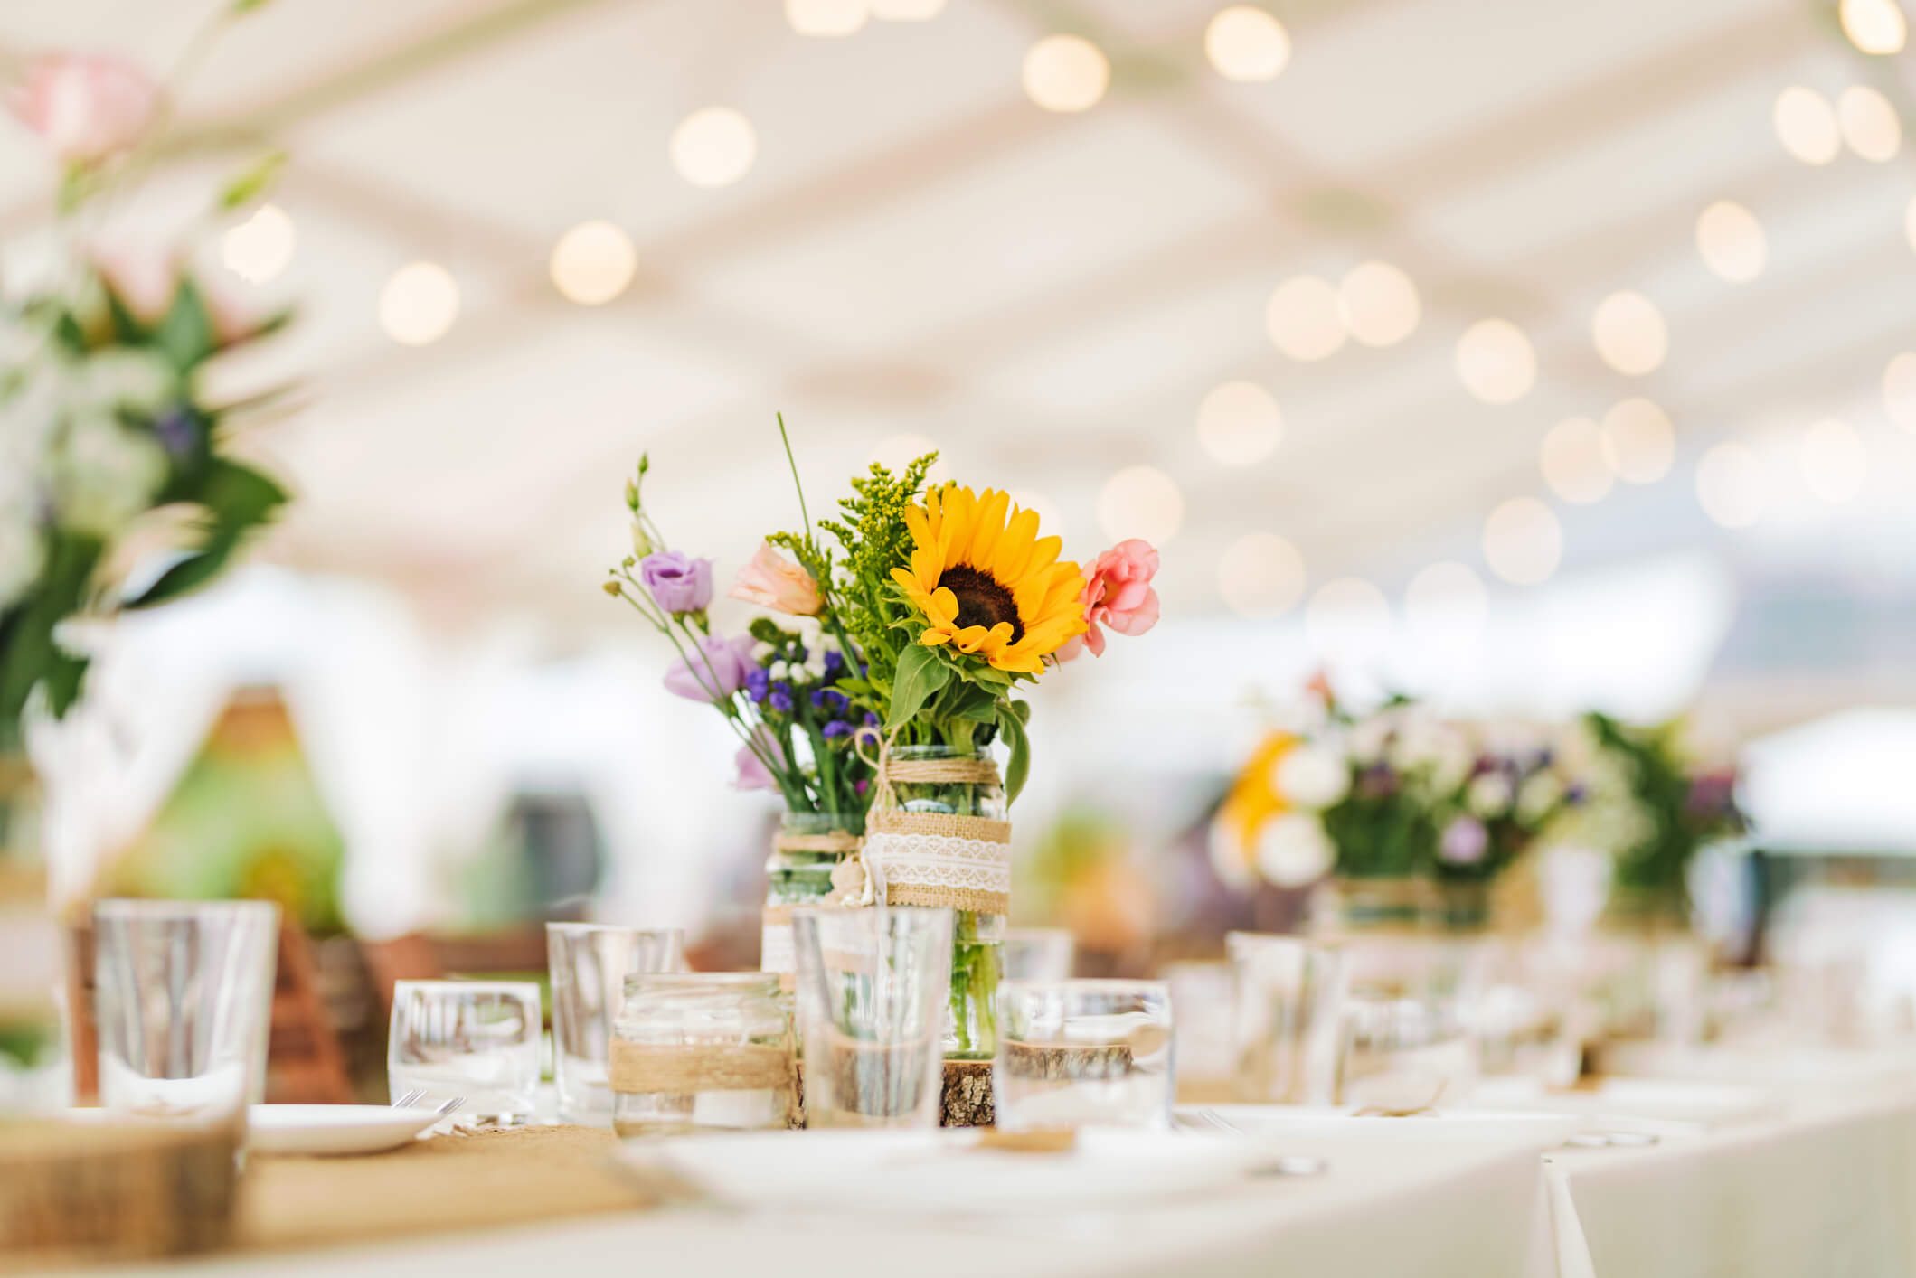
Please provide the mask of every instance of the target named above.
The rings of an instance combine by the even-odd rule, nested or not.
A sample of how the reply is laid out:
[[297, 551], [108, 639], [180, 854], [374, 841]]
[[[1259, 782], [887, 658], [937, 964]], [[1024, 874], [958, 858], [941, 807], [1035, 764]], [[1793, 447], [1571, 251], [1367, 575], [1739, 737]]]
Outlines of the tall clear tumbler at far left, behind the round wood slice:
[[266, 1090], [278, 950], [268, 901], [96, 902], [102, 1106], [243, 1121]]

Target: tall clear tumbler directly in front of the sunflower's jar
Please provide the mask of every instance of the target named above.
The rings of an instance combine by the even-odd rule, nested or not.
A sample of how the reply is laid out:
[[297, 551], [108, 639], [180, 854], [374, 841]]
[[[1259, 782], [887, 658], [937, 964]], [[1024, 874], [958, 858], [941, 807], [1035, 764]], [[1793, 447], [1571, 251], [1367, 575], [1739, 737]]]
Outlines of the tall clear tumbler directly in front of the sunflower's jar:
[[795, 910], [807, 1127], [937, 1127], [952, 912]]

